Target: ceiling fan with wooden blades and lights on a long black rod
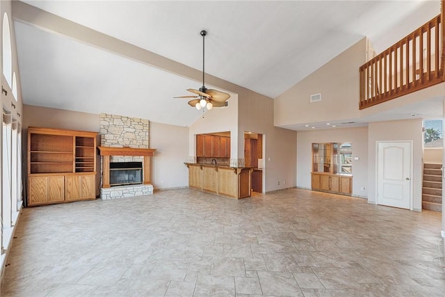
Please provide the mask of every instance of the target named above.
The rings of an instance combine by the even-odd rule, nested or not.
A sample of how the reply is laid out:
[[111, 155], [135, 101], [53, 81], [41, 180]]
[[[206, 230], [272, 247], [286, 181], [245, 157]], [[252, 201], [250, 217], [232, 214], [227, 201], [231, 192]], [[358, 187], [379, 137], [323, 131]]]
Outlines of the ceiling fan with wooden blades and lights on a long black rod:
[[204, 85], [204, 38], [207, 35], [207, 31], [202, 30], [200, 32], [202, 36], [202, 87], [199, 90], [192, 88], [187, 89], [188, 92], [195, 93], [191, 96], [180, 96], [175, 98], [194, 98], [188, 102], [188, 105], [196, 107], [199, 111], [200, 109], [207, 107], [208, 110], [212, 107], [223, 107], [227, 106], [227, 99], [230, 95], [220, 90], [207, 89]]

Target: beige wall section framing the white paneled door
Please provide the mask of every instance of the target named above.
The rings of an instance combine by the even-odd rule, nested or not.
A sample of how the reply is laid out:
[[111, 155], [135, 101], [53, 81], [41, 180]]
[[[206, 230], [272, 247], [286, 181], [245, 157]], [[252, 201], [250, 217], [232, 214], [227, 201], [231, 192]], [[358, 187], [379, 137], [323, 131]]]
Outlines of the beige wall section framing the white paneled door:
[[413, 142], [413, 209], [422, 209], [422, 157], [423, 157], [423, 122], [416, 120], [397, 120], [387, 122], [371, 122], [368, 126], [368, 202], [376, 202], [376, 170], [378, 141], [412, 141]]

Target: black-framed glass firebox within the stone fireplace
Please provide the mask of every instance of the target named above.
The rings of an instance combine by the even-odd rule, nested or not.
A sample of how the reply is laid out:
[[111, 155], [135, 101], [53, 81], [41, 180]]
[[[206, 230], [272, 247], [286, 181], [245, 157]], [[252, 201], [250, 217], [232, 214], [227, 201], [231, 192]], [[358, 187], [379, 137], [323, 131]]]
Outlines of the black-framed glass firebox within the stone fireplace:
[[110, 162], [110, 186], [142, 184], [142, 162]]

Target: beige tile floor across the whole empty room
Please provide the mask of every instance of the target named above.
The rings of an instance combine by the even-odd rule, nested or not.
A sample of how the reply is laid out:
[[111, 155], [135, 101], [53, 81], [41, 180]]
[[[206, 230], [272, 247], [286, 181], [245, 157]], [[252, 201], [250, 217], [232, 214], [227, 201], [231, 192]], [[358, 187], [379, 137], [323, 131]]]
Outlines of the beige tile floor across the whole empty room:
[[1, 296], [445, 296], [440, 224], [296, 188], [35, 207]]

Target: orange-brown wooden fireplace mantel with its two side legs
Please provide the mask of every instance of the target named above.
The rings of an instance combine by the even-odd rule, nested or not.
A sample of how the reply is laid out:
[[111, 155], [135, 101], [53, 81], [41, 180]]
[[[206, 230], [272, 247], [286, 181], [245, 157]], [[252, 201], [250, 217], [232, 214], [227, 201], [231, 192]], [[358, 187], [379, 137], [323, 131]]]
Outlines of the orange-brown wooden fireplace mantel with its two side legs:
[[102, 168], [104, 179], [102, 181], [102, 188], [110, 187], [110, 156], [143, 156], [143, 184], [150, 184], [150, 156], [154, 156], [154, 151], [156, 151], [156, 149], [134, 147], [97, 147], [97, 149], [99, 150], [99, 154], [104, 158], [104, 168]]

